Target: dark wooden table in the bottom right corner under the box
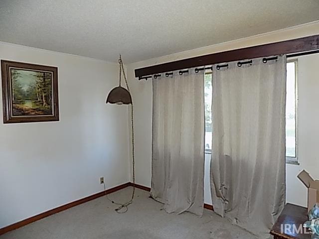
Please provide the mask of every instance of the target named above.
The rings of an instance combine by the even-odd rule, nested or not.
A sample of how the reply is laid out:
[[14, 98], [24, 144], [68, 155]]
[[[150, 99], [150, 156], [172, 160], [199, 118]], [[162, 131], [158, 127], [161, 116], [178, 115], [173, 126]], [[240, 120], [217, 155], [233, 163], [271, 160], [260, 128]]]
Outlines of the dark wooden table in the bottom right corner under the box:
[[[288, 203], [271, 229], [270, 234], [274, 236], [274, 239], [311, 239], [308, 229], [303, 228], [303, 231], [299, 233], [293, 230], [294, 225], [295, 228], [299, 229], [300, 225], [303, 225], [307, 220], [307, 208]], [[285, 225], [287, 225], [286, 230]]]

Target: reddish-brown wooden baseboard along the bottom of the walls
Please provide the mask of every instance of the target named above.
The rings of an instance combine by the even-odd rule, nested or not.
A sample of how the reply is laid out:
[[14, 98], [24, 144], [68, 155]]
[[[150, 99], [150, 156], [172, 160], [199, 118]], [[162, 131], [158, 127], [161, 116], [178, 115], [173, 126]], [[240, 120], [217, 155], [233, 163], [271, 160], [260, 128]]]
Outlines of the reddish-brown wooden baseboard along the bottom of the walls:
[[[0, 235], [8, 233], [8, 232], [13, 231], [13, 230], [18, 229], [18, 228], [21, 228], [23, 226], [26, 226], [26, 225], [28, 225], [30, 223], [33, 223], [35, 221], [38, 221], [38, 220], [40, 220], [42, 218], [46, 218], [46, 217], [51, 216], [53, 214], [56, 214], [56, 213], [62, 212], [64, 210], [67, 210], [69, 208], [75, 207], [75, 206], [80, 205], [82, 203], [86, 203], [86, 202], [89, 202], [91, 200], [97, 199], [99, 197], [103, 197], [105, 194], [114, 193], [116, 191], [119, 191], [119, 190], [127, 188], [127, 187], [135, 187], [135, 188], [139, 188], [139, 189], [142, 189], [142, 190], [145, 190], [145, 191], [148, 191], [148, 192], [151, 191], [151, 188], [143, 186], [143, 185], [140, 185], [140, 184], [136, 184], [136, 183], [132, 183], [132, 182], [124, 183], [124, 184], [121, 184], [119, 186], [107, 189], [106, 191], [102, 191], [102, 192], [90, 195], [88, 197], [78, 199], [76, 201], [64, 204], [64, 205], [59, 206], [57, 208], [53, 208], [51, 210], [45, 211], [43, 213], [40, 213], [38, 215], [32, 216], [30, 218], [26, 218], [26, 219], [24, 219], [22, 221], [13, 223], [13, 224], [8, 225], [8, 226], [6, 226], [4, 228], [0, 228]], [[206, 208], [208, 210], [213, 210], [213, 206], [209, 205], [209, 204], [204, 204], [204, 208]]]

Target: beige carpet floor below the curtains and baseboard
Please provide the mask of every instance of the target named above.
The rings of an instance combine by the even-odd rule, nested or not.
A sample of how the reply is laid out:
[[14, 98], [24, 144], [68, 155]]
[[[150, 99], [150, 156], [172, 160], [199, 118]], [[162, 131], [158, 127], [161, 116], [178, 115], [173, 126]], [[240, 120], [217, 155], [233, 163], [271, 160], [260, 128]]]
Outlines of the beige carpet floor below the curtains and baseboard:
[[[126, 202], [132, 188], [109, 194]], [[256, 239], [248, 232], [204, 210], [199, 218], [190, 213], [167, 214], [162, 205], [137, 189], [136, 199], [125, 214], [106, 197], [70, 208], [20, 229], [0, 239]]]

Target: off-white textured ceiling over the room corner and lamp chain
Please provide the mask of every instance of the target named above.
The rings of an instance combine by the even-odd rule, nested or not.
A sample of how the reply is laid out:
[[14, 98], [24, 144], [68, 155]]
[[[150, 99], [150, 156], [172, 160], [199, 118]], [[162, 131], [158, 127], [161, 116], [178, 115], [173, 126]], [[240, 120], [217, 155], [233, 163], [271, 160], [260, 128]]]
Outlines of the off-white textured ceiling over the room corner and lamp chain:
[[319, 19], [319, 0], [0, 0], [0, 41], [125, 63]]

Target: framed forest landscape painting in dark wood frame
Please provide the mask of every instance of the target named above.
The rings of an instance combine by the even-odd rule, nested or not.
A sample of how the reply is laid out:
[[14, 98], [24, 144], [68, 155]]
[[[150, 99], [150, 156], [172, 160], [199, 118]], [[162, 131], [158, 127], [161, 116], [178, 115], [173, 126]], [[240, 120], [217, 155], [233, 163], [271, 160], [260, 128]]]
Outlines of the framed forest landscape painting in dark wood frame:
[[57, 67], [1, 60], [3, 123], [59, 120]]

